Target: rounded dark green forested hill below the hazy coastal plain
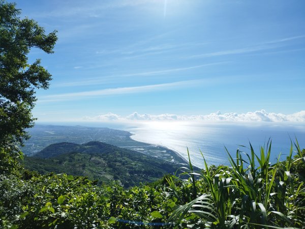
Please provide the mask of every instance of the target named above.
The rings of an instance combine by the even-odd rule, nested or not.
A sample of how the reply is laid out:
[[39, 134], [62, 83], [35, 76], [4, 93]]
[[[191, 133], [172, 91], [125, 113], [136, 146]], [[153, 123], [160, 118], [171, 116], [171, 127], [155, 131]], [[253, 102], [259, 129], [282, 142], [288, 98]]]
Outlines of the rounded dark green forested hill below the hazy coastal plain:
[[99, 183], [117, 180], [124, 187], [155, 181], [182, 166], [99, 141], [52, 144], [35, 157], [25, 157], [24, 165], [41, 174], [87, 176]]

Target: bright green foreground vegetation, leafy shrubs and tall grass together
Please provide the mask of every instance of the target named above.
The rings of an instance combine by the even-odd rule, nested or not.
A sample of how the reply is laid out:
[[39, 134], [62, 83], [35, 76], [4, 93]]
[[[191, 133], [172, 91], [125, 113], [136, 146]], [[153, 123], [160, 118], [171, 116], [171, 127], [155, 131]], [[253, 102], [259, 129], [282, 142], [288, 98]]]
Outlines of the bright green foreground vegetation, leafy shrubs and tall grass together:
[[192, 171], [190, 163], [175, 176], [130, 189], [39, 175], [18, 165], [16, 151], [9, 158], [2, 151], [8, 163], [0, 166], [0, 227], [302, 228], [305, 150], [296, 143], [294, 157], [291, 148], [285, 161], [270, 164], [270, 145], [258, 154], [251, 146], [249, 154], [228, 154], [231, 166]]

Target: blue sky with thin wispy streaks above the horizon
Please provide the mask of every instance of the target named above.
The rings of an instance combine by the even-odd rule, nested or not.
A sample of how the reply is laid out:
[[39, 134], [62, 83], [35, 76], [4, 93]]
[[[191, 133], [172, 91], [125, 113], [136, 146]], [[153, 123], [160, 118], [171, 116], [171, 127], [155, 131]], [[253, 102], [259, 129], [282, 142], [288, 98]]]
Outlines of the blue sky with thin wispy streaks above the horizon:
[[304, 1], [14, 2], [58, 31], [54, 54], [29, 55], [53, 75], [37, 92], [39, 121], [217, 111], [305, 121]]

